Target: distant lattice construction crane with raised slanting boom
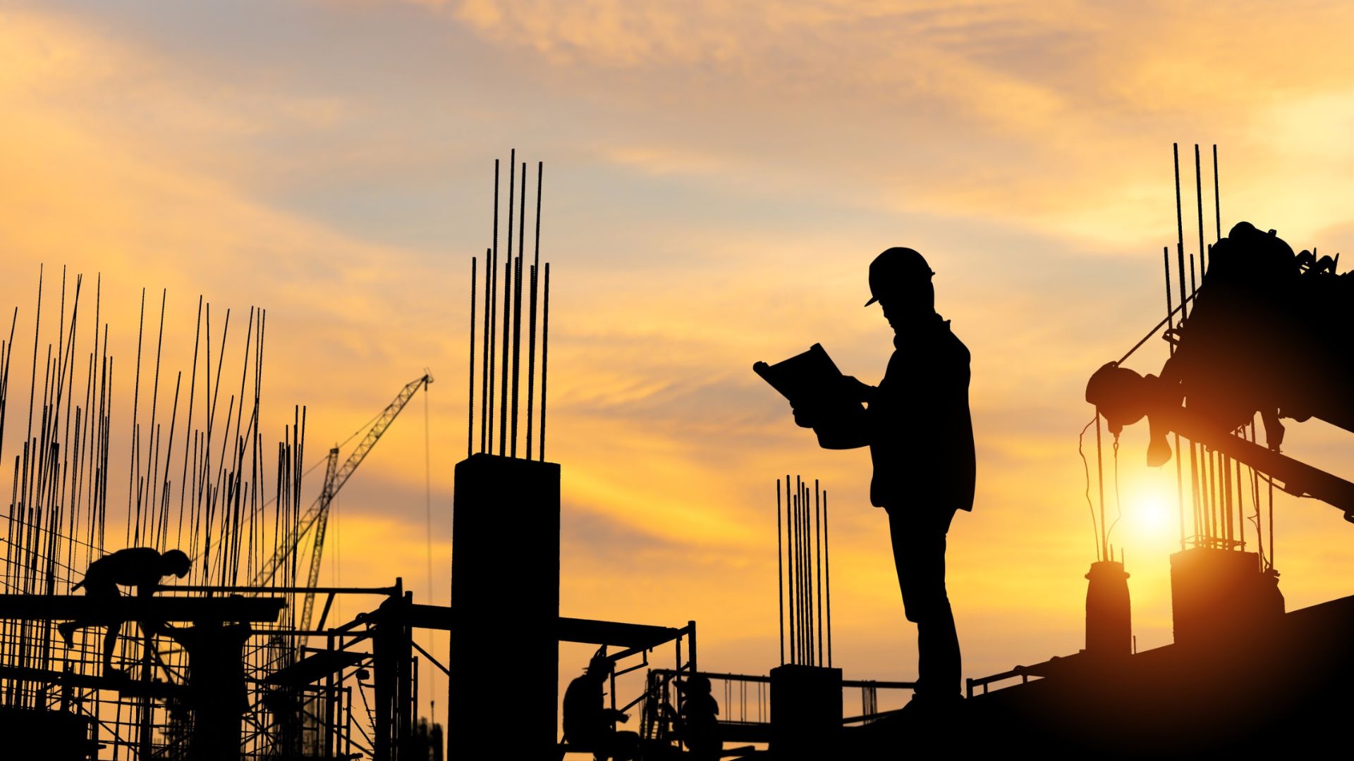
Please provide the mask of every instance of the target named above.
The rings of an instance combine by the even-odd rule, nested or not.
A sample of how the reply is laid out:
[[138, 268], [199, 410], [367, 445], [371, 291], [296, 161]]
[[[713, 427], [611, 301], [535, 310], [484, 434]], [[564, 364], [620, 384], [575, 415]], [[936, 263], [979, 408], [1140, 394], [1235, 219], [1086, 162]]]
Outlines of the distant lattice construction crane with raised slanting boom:
[[301, 622], [299, 626], [303, 630], [310, 628], [310, 616], [315, 607], [315, 593], [314, 586], [320, 582], [320, 558], [325, 548], [325, 528], [329, 524], [329, 505], [333, 502], [334, 494], [343, 489], [343, 485], [348, 482], [362, 460], [367, 458], [371, 448], [376, 445], [380, 436], [390, 428], [390, 424], [395, 421], [399, 412], [405, 409], [409, 399], [418, 393], [420, 389], [427, 389], [432, 383], [432, 375], [424, 372], [424, 375], [416, 380], [410, 380], [403, 389], [395, 394], [395, 398], [386, 405], [386, 409], [376, 416], [376, 420], [367, 429], [367, 435], [363, 436], [357, 447], [348, 455], [343, 466], [338, 464], [338, 447], [329, 450], [329, 458], [325, 463], [325, 485], [320, 490], [320, 497], [310, 505], [301, 520], [297, 521], [297, 528], [290, 532], [290, 535], [283, 540], [282, 546], [278, 548], [276, 554], [268, 559], [255, 577], [255, 586], [268, 585], [274, 577], [278, 574], [278, 569], [286, 566], [288, 559], [291, 559], [295, 552], [301, 548], [301, 540], [310, 532], [311, 528], [315, 531], [314, 550], [310, 554], [310, 575], [307, 577], [307, 584], [311, 590], [306, 592], [305, 603], [301, 608]]

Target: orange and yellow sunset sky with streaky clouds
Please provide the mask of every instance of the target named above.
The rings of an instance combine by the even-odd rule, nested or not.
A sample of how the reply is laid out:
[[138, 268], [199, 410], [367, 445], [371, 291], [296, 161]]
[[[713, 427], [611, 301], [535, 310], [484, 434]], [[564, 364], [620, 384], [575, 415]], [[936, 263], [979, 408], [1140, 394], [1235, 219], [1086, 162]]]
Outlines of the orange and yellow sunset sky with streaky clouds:
[[[1164, 314], [1171, 144], [1189, 211], [1193, 145], [1219, 145], [1224, 232], [1354, 242], [1350, 28], [1354, 7], [1319, 1], [0, 0], [0, 314], [19, 307], [22, 355], [39, 264], [49, 287], [102, 274], [130, 368], [141, 288], [168, 288], [180, 368], [199, 294], [263, 306], [265, 440], [306, 405], [307, 460], [429, 368], [432, 588], [422, 399], [344, 489], [325, 581], [402, 575], [445, 604], [470, 257], [516, 148], [546, 162], [562, 613], [696, 620], [703, 669], [765, 673], [774, 481], [802, 474], [831, 493], [835, 665], [913, 678], [868, 454], [816, 448], [750, 370], [822, 343], [877, 382], [892, 333], [861, 309], [867, 265], [913, 246], [972, 352], [978, 497], [948, 562], [983, 676], [1082, 646], [1085, 382]], [[1351, 440], [1312, 421], [1285, 448], [1347, 477]], [[1128, 429], [1112, 539], [1139, 649], [1171, 639], [1178, 548], [1174, 467], [1144, 450]], [[125, 509], [114, 492], [110, 525]], [[1354, 528], [1313, 501], [1275, 513], [1289, 609], [1350, 593]]]

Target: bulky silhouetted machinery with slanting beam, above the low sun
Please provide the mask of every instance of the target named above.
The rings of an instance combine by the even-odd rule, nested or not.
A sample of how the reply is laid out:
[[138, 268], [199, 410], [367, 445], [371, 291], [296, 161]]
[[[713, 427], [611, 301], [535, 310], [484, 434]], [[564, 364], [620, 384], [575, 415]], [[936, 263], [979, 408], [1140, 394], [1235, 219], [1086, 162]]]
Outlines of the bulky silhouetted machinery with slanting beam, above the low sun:
[[[1247, 222], [1209, 246], [1208, 264], [1187, 297], [1194, 302], [1187, 318], [1179, 309], [1179, 324], [1166, 330], [1173, 351], [1160, 375], [1141, 376], [1112, 362], [1091, 376], [1086, 399], [1116, 437], [1124, 425], [1148, 418], [1151, 466], [1169, 462], [1166, 436], [1177, 433], [1223, 455], [1227, 470], [1227, 460], [1254, 467], [1280, 489], [1331, 504], [1354, 521], [1354, 483], [1280, 454], [1282, 417], [1319, 417], [1354, 431], [1347, 393], [1354, 363], [1345, 330], [1354, 278], [1336, 275], [1334, 259], [1293, 253], [1274, 230]], [[1265, 445], [1255, 440], [1257, 416]], [[1231, 482], [1224, 485], [1231, 500]], [[1229, 505], [1224, 513], [1224, 525], [1236, 523]]]

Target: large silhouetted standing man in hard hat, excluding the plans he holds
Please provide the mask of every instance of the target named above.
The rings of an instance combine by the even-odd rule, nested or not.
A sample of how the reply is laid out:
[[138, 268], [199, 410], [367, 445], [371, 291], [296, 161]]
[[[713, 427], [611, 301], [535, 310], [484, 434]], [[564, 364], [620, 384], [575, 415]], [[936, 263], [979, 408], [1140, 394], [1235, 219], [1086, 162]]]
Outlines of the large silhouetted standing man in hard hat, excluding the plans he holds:
[[898, 585], [917, 624], [917, 689], [910, 711], [960, 697], [959, 635], [945, 592], [945, 535], [956, 510], [974, 509], [976, 458], [968, 410], [968, 348], [936, 314], [930, 265], [891, 248], [869, 265], [869, 306], [894, 328], [894, 353], [879, 386], [846, 376], [864, 416], [831, 418], [795, 408], [795, 422], [827, 431], [831, 448], [869, 447], [869, 501], [888, 513]]

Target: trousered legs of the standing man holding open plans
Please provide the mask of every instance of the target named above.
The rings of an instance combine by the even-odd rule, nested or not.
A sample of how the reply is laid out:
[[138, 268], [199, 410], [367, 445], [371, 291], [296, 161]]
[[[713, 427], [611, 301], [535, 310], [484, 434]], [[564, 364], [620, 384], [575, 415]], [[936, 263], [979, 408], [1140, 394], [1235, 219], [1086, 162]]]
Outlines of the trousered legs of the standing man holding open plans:
[[903, 611], [917, 624], [915, 693], [926, 699], [960, 693], [959, 634], [945, 592], [945, 532], [953, 516], [888, 510]]

